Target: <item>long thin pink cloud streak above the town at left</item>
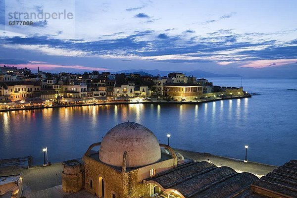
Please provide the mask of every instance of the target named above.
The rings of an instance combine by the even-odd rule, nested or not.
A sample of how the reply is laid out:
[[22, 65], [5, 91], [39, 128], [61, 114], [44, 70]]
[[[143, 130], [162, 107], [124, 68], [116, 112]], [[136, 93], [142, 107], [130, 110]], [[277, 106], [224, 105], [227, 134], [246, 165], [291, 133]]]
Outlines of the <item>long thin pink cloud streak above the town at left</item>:
[[[35, 61], [30, 61], [30, 62], [35, 62]], [[37, 61], [38, 62], [38, 61]], [[108, 70], [106, 68], [95, 68], [95, 67], [86, 67], [86, 66], [81, 66], [81, 65], [54, 65], [54, 64], [16, 64], [16, 65], [7, 65], [6, 66], [15, 66], [15, 67], [28, 67], [30, 69], [37, 69], [39, 67], [40, 70], [46, 69], [46, 70], [51, 70], [54, 68], [68, 68], [68, 69], [81, 69], [81, 70], [97, 70], [97, 71], [105, 71]]]

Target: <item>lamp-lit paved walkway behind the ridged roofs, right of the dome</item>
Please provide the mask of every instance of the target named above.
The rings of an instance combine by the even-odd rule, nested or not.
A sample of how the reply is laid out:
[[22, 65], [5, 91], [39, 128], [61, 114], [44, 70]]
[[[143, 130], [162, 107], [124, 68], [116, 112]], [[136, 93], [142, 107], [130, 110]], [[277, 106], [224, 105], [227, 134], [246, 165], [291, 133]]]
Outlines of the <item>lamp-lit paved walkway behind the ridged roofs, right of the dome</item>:
[[185, 158], [193, 159], [196, 161], [206, 161], [207, 159], [209, 159], [209, 161], [214, 163], [216, 166], [228, 166], [233, 168], [237, 172], [249, 172], [258, 177], [264, 176], [267, 173], [272, 172], [274, 169], [278, 168], [278, 166], [272, 166], [250, 161], [246, 163], [240, 159], [221, 157], [211, 155], [209, 153], [200, 153], [181, 149], [175, 150], [181, 153]]

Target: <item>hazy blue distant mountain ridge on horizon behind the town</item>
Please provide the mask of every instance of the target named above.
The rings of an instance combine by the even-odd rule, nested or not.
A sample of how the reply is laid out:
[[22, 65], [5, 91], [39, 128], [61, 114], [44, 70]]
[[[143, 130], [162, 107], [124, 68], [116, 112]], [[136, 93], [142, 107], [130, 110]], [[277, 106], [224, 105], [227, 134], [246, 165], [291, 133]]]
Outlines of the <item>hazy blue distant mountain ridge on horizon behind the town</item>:
[[158, 69], [153, 69], [153, 70], [140, 70], [140, 69], [129, 69], [129, 70], [122, 70], [122, 71], [118, 71], [118, 72], [113, 72], [113, 73], [133, 73], [133, 74], [140, 74], [141, 76], [156, 76], [158, 74], [160, 74], [160, 76], [167, 76], [168, 73], [172, 73], [172, 72], [181, 72], [183, 74], [186, 74], [187, 76], [189, 75], [193, 75], [196, 77], [242, 77], [241, 75], [238, 74], [214, 74], [214, 73], [210, 73], [210, 72], [206, 72], [206, 71], [201, 71], [201, 70], [195, 70], [195, 71], [160, 71]]

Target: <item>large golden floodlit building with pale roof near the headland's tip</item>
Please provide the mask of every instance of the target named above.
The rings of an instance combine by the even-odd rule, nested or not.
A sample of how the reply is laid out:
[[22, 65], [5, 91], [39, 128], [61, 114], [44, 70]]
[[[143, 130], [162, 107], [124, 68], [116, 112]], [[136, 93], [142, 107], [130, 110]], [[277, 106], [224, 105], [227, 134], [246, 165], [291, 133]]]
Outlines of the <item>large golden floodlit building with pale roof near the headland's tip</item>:
[[202, 87], [197, 84], [188, 83], [167, 83], [164, 85], [163, 95], [166, 97], [180, 98], [200, 98], [202, 96]]

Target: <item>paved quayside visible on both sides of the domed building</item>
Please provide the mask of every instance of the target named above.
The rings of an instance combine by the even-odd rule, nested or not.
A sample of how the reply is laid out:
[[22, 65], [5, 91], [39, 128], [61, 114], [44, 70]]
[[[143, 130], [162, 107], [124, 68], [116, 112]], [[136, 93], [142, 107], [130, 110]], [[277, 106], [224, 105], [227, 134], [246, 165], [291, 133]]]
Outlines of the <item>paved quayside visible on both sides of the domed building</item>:
[[[187, 150], [175, 149], [184, 155], [185, 158], [204, 161], [209, 159], [216, 166], [229, 166], [238, 172], [250, 172], [258, 177], [273, 171], [277, 166], [260, 164], [255, 162], [243, 162], [238, 159], [231, 159], [199, 153]], [[0, 176], [10, 174], [23, 174], [23, 196], [26, 198], [96, 198], [95, 196], [80, 191], [76, 194], [66, 194], [61, 190], [62, 163], [55, 163], [51, 166], [35, 166], [28, 169], [14, 169], [0, 172]]]

